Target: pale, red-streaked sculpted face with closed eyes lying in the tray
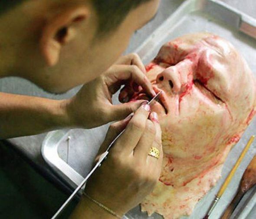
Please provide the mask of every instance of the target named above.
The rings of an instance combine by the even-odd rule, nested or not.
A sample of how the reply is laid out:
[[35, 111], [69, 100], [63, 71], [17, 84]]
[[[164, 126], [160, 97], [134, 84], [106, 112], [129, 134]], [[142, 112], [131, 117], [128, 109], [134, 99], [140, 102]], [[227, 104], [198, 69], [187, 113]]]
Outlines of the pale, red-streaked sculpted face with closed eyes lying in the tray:
[[152, 110], [160, 117], [164, 163], [142, 210], [172, 219], [190, 214], [220, 177], [230, 148], [256, 113], [256, 82], [230, 42], [210, 33], [167, 42], [147, 76], [162, 91]]

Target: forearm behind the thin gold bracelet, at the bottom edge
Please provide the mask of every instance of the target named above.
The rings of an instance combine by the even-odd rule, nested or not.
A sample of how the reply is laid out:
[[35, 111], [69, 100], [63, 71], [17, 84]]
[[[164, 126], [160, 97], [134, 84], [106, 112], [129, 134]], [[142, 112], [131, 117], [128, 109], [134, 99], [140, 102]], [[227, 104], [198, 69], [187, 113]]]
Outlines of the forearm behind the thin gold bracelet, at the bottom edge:
[[70, 219], [117, 219], [106, 210], [102, 209], [100, 206], [92, 203], [90, 200], [86, 199], [84, 196], [80, 199], [79, 204], [76, 206], [73, 211]]

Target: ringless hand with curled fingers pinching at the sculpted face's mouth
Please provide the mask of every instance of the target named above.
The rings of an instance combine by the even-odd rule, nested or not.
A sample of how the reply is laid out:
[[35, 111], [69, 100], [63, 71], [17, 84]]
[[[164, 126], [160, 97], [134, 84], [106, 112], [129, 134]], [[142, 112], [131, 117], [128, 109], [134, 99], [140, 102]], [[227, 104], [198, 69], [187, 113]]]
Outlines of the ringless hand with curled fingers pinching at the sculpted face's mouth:
[[136, 54], [123, 56], [104, 74], [84, 85], [75, 97], [65, 101], [69, 121], [74, 127], [92, 128], [110, 121], [124, 119], [135, 112], [143, 100], [112, 104], [112, 95], [121, 85], [135, 82], [152, 97], [155, 94], [151, 83], [144, 75], [145, 68]]

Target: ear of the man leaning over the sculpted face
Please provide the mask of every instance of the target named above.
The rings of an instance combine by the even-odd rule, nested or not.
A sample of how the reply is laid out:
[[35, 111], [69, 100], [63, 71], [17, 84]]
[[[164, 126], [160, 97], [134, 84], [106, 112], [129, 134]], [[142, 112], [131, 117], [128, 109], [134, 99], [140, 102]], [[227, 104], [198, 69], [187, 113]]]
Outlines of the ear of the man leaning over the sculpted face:
[[47, 20], [39, 42], [47, 65], [53, 66], [58, 63], [62, 46], [75, 38], [77, 24], [88, 17], [89, 10], [83, 6], [63, 10]]

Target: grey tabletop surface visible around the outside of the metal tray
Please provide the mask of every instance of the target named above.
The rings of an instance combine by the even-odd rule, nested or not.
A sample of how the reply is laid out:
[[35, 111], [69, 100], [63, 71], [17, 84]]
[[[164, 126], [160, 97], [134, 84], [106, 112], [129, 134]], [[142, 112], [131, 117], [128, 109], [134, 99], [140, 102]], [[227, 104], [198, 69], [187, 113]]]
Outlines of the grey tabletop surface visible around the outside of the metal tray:
[[[133, 52], [139, 45], [156, 29], [171, 13], [173, 13], [183, 0], [162, 0], [158, 14], [154, 20], [138, 30], [132, 37], [130, 46], [125, 53]], [[223, 0], [223, 2], [243, 11], [244, 13], [256, 18], [256, 1], [255, 0]], [[74, 88], [64, 95], [51, 95], [37, 88], [32, 83], [22, 78], [3, 78], [0, 79], [0, 92], [8, 92], [22, 95], [33, 95], [52, 99], [70, 98], [79, 90]], [[29, 137], [13, 138], [5, 141], [11, 144], [16, 150], [28, 158], [40, 170], [52, 175], [48, 165], [41, 156], [41, 145], [46, 134], [40, 134]], [[72, 159], [72, 157], [70, 157]], [[74, 159], [74, 158], [73, 158]]]

